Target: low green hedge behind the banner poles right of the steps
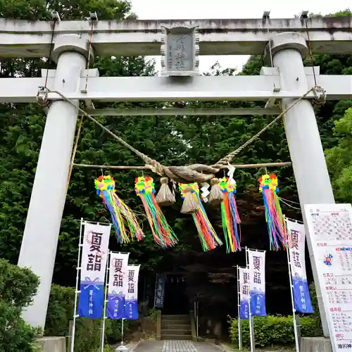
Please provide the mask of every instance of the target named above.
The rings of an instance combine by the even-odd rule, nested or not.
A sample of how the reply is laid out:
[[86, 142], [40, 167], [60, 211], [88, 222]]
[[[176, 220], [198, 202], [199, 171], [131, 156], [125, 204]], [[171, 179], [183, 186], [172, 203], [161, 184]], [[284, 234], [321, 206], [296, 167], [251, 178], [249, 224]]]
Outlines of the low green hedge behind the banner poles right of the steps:
[[[236, 344], [238, 341], [237, 319], [232, 319], [230, 323], [230, 337], [232, 342]], [[256, 346], [294, 344], [294, 323], [291, 316], [254, 317], [253, 324]], [[316, 336], [315, 318], [301, 318], [301, 335], [302, 337]], [[242, 338], [244, 346], [250, 346], [249, 320], [242, 320]]]

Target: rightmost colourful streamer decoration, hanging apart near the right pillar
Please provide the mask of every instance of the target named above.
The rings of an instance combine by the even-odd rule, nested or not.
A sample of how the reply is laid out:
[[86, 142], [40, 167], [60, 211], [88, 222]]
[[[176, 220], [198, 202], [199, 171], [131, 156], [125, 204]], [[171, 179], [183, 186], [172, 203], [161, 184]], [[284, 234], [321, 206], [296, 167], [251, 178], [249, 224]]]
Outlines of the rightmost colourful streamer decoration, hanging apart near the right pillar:
[[259, 177], [259, 183], [259, 190], [263, 194], [264, 199], [265, 220], [268, 225], [270, 249], [279, 250], [279, 242], [281, 242], [285, 249], [287, 246], [290, 246], [290, 242], [279, 197], [277, 196], [277, 192], [279, 191], [277, 177], [274, 174], [263, 175]]

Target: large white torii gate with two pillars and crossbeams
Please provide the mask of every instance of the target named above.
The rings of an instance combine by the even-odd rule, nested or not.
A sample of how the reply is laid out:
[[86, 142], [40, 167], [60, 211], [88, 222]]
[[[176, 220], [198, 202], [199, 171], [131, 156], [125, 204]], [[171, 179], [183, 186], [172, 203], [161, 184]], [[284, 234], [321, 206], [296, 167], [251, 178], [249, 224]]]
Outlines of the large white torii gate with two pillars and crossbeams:
[[[176, 31], [172, 33], [173, 28]], [[191, 61], [185, 59], [185, 66], [189, 66], [187, 72], [175, 68], [172, 63], [174, 54], [169, 50], [175, 44], [175, 37], [184, 33], [190, 33], [188, 38], [191, 38], [189, 43], [193, 48], [188, 52]], [[92, 47], [89, 48], [91, 35]], [[52, 47], [51, 58], [57, 62], [56, 70], [48, 73], [44, 70], [42, 78], [2, 78], [0, 103], [35, 102], [37, 94], [43, 98], [38, 87], [44, 86], [46, 74], [48, 89], [61, 92], [76, 106], [79, 101], [85, 101], [87, 112], [96, 115], [155, 113], [145, 110], [94, 111], [92, 101], [210, 100], [267, 101], [263, 109], [230, 109], [229, 114], [273, 115], [279, 113], [273, 107], [275, 100], [279, 99], [282, 107], [287, 108], [316, 85], [325, 89], [326, 99], [351, 99], [351, 75], [320, 75], [319, 68], [303, 67], [302, 56], [308, 54], [308, 39], [314, 53], [352, 54], [351, 18], [272, 20], [267, 16], [258, 20], [57, 20], [55, 25], [53, 21], [0, 19], [0, 58], [44, 57]], [[263, 53], [272, 59], [274, 67], [263, 68], [258, 76], [196, 75], [198, 54]], [[99, 77], [97, 70], [86, 70], [87, 59], [91, 60], [94, 55], [160, 54], [163, 55], [165, 77]], [[170, 65], [173, 65], [172, 68]], [[175, 70], [179, 72], [175, 73]], [[51, 101], [51, 105], [18, 260], [18, 265], [31, 268], [41, 280], [32, 306], [23, 313], [27, 322], [40, 327], [44, 327], [46, 319], [77, 120], [75, 106], [63, 101], [59, 94], [49, 92], [44, 97]], [[310, 92], [284, 117], [302, 213], [304, 204], [334, 203], [315, 113], [310, 103], [316, 97], [316, 92]], [[182, 109], [182, 115], [187, 113], [194, 115], [194, 111]], [[309, 236], [307, 239], [312, 255]], [[310, 258], [324, 334], [328, 337], [319, 279], [313, 256]]]

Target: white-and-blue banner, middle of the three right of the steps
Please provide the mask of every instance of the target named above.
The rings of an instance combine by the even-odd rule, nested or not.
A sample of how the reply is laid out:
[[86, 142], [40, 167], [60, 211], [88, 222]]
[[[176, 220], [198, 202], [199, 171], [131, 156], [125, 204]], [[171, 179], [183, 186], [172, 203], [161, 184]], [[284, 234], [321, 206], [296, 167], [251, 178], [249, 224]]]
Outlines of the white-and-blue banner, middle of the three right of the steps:
[[266, 316], [265, 252], [248, 249], [251, 315]]

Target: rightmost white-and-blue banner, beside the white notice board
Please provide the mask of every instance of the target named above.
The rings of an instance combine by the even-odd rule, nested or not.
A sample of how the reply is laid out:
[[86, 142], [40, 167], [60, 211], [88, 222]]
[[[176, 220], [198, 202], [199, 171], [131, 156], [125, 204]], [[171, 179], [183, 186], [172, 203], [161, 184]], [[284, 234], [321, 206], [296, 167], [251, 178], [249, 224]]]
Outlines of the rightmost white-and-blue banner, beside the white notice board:
[[289, 265], [291, 268], [294, 308], [299, 313], [314, 313], [306, 273], [306, 232], [304, 225], [288, 219], [286, 224], [292, 241], [292, 247], [289, 248]]

